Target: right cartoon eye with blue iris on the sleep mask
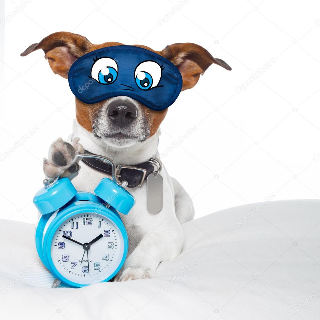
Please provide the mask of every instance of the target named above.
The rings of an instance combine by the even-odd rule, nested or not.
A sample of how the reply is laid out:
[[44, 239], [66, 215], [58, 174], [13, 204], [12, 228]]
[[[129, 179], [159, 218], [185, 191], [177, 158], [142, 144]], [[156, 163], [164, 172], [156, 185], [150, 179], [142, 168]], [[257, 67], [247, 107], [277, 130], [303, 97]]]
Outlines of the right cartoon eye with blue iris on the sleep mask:
[[154, 61], [141, 62], [134, 71], [136, 84], [142, 90], [156, 87], [161, 75], [162, 68]]

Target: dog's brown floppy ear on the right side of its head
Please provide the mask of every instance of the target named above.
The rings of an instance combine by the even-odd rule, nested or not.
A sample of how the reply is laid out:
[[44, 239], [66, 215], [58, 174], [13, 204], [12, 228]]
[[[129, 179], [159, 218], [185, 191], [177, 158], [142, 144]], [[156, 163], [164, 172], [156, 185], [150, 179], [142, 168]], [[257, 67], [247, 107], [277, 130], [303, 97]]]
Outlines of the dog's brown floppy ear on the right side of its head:
[[161, 52], [166, 59], [170, 60], [182, 75], [182, 89], [193, 88], [200, 75], [209, 68], [212, 63], [227, 70], [231, 67], [221, 59], [215, 59], [210, 52], [194, 43], [176, 43], [167, 45]]

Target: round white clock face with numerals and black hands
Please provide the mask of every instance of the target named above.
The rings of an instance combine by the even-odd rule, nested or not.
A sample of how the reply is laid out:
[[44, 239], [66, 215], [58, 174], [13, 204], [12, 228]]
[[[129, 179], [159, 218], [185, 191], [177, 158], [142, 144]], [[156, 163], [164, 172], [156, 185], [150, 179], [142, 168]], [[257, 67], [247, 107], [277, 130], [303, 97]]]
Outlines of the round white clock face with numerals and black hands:
[[105, 280], [119, 266], [124, 241], [118, 227], [103, 215], [76, 214], [56, 230], [51, 258], [58, 272], [78, 284]]

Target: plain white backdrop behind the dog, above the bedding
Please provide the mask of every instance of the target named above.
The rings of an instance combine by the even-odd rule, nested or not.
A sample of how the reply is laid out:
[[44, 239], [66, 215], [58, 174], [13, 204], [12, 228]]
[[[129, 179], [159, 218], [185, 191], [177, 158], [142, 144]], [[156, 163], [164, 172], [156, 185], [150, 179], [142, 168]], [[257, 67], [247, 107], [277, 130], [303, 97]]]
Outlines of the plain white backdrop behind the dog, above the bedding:
[[[196, 217], [273, 193], [274, 200], [319, 198], [318, 1], [29, 2], [5, 1], [11, 20], [0, 27], [0, 156], [13, 150], [0, 161], [0, 218], [36, 222], [32, 199], [44, 178], [42, 158], [72, 130], [68, 81], [52, 73], [42, 50], [20, 57], [56, 31], [154, 50], [193, 42], [233, 68], [212, 65], [194, 89], [181, 93], [161, 126], [160, 152], [196, 126], [163, 159], [192, 196]], [[18, 5], [23, 10], [14, 13]]]

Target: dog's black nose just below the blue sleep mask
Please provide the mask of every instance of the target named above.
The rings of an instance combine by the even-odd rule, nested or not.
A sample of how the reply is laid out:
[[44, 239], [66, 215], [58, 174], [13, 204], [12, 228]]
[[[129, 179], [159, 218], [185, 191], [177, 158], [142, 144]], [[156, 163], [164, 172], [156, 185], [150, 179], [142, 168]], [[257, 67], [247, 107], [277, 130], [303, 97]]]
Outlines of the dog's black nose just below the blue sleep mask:
[[107, 115], [115, 124], [126, 126], [138, 116], [138, 111], [130, 101], [114, 100], [108, 105]]

